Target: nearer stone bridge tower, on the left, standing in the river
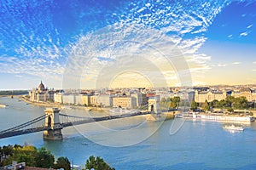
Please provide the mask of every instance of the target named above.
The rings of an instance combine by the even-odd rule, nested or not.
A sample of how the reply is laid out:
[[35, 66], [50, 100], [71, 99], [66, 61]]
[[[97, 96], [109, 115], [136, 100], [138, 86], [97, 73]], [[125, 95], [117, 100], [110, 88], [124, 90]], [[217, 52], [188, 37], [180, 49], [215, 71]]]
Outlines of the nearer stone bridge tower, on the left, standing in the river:
[[63, 128], [60, 122], [58, 108], [46, 108], [44, 110], [46, 114], [45, 127], [49, 127], [48, 130], [44, 131], [44, 139], [59, 140], [62, 139], [61, 129]]

